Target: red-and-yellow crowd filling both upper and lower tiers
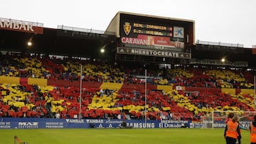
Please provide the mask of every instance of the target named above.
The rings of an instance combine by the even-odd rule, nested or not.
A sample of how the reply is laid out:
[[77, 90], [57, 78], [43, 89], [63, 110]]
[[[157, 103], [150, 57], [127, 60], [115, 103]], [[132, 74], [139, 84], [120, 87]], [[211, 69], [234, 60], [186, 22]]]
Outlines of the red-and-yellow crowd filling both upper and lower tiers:
[[[82, 65], [82, 76], [81, 74]], [[0, 57], [0, 76], [65, 79], [87, 82], [147, 83], [183, 87], [252, 89], [253, 75], [245, 70], [217, 70], [179, 66], [171, 70], [156, 65], [124, 65], [74, 57], [6, 52]], [[1, 84], [0, 116], [37, 118], [78, 118], [80, 89], [78, 87], [40, 87], [29, 84]], [[169, 92], [149, 89], [144, 111], [144, 90], [82, 89], [82, 118], [133, 118], [200, 120], [213, 109], [254, 111], [252, 96], [240, 99], [224, 93]], [[247, 97], [248, 99], [242, 99]], [[227, 107], [228, 106], [228, 107]]]

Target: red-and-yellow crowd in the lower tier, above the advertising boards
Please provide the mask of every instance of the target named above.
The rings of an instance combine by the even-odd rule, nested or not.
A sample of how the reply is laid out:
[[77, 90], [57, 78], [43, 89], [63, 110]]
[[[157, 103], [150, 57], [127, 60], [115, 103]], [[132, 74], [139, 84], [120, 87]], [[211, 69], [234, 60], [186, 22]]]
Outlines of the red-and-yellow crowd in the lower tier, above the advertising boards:
[[[34, 118], [127, 118], [155, 120], [201, 120], [213, 111], [254, 111], [247, 94], [185, 93], [132, 89], [80, 89], [1, 84], [0, 116]], [[246, 98], [246, 99], [245, 99]], [[81, 111], [81, 113], [80, 113]]]

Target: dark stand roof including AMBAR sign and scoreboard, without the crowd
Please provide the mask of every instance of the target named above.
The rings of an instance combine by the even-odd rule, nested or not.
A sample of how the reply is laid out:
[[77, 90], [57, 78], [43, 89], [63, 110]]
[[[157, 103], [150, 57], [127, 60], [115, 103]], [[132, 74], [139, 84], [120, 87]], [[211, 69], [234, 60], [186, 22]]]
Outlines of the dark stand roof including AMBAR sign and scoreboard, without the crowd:
[[[6, 51], [157, 64], [255, 67], [252, 48], [195, 40], [195, 21], [119, 11], [105, 31], [0, 18]], [[27, 42], [33, 41], [28, 47]], [[105, 48], [105, 54], [100, 49]], [[220, 62], [225, 57], [226, 62]]]

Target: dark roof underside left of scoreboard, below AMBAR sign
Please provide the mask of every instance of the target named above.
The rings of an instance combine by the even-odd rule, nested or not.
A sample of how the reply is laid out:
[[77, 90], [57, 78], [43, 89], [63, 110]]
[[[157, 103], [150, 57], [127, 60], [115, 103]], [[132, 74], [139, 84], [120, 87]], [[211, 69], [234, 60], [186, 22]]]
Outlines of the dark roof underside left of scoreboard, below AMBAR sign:
[[[0, 30], [0, 49], [77, 57], [96, 58], [102, 56], [106, 59], [110, 58], [110, 53], [100, 55], [100, 49], [103, 47], [112, 48], [115, 40], [114, 35], [107, 35], [107, 37], [102, 38], [97, 33], [87, 33], [87, 36], [83, 34], [85, 33], [53, 28], [43, 28], [43, 34]], [[28, 40], [33, 42], [30, 47], [27, 45]]]

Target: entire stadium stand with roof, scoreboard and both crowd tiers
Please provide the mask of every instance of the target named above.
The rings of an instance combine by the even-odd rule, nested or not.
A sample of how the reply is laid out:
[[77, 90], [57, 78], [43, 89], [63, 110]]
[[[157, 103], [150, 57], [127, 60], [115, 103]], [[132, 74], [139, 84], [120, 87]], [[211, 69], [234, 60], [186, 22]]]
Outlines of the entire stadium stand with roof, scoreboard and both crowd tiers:
[[[255, 111], [251, 50], [196, 44], [194, 21], [117, 16], [105, 33], [0, 30], [0, 116], [202, 121], [212, 111]], [[36, 46], [24, 46], [27, 38]]]

